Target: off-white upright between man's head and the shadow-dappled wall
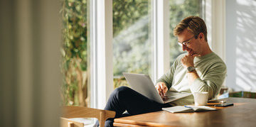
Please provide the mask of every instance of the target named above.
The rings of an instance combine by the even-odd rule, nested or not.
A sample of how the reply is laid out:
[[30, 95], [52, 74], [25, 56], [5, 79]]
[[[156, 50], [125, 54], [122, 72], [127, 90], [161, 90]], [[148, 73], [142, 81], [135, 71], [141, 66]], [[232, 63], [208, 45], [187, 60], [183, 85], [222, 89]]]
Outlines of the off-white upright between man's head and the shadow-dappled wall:
[[225, 0], [206, 0], [205, 6], [208, 43], [225, 62]]

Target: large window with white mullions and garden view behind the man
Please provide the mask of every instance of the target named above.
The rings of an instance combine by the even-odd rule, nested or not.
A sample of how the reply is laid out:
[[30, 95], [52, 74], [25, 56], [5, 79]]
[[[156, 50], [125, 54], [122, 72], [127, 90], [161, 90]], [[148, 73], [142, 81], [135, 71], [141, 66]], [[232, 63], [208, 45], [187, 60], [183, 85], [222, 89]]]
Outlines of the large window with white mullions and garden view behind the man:
[[[88, 1], [63, 0], [63, 8], [61, 9], [63, 16], [63, 47], [61, 48], [63, 58], [61, 64], [63, 72], [61, 91], [63, 105], [91, 106], [91, 104], [94, 104], [93, 106], [103, 106], [105, 104], [106, 100], [100, 99], [100, 97], [108, 96], [112, 92], [112, 89], [107, 89], [110, 88], [110, 85], [112, 86], [112, 84], [107, 82], [112, 77], [107, 77], [110, 74], [106, 74], [107, 76], [101, 75], [100, 67], [103, 69], [102, 72], [110, 72], [106, 67], [113, 65], [114, 86], [112, 87], [116, 88], [127, 85], [122, 72], [153, 75], [157, 71], [155, 69], [156, 65], [165, 65], [166, 67], [167, 64], [162, 62], [155, 63], [157, 61], [154, 60], [156, 56], [171, 57], [172, 64], [175, 58], [182, 53], [181, 48], [177, 45], [177, 39], [173, 35], [173, 29], [186, 16], [200, 16], [202, 0], [169, 0], [170, 53], [163, 53], [163, 55], [161, 53], [157, 54], [161, 51], [161, 46], [156, 46], [155, 41], [154, 43], [152, 41], [152, 38], [157, 40], [156, 33], [153, 35], [152, 29], [154, 28], [154, 31], [161, 31], [160, 27], [156, 28], [159, 23], [162, 23], [161, 20], [155, 20], [156, 18], [161, 19], [161, 16], [156, 14], [161, 9], [159, 7], [155, 9], [155, 5], [161, 5], [157, 4], [161, 2], [157, 0], [112, 0], [111, 8], [109, 6], [111, 1], [100, 2], [90, 0], [92, 1], [90, 5]], [[154, 3], [154, 7], [152, 3]], [[105, 6], [105, 8], [102, 8], [102, 6]], [[111, 16], [101, 16], [102, 14], [109, 13], [111, 9]], [[88, 10], [92, 10], [90, 11], [90, 16]], [[153, 13], [154, 16], [152, 16]], [[102, 32], [100, 28], [106, 25], [105, 21], [109, 23], [110, 20], [112, 20], [111, 27], [113, 31], [111, 32], [113, 33], [113, 38], [109, 35], [105, 38], [106, 41], [102, 41], [102, 38], [108, 34], [106, 34], [107, 31]], [[164, 18], [163, 20], [166, 21]], [[89, 24], [91, 25], [90, 32], [88, 31]], [[166, 28], [165, 25], [164, 27]], [[107, 30], [110, 31], [110, 28], [107, 28]], [[92, 35], [92, 45], [89, 45], [88, 37], [90, 35]], [[112, 43], [107, 40], [111, 40]], [[112, 45], [112, 49], [107, 48], [110, 45]], [[107, 49], [105, 54], [102, 52], [102, 49]], [[91, 53], [91, 58], [89, 53]], [[89, 66], [90, 60], [92, 67]], [[99, 62], [99, 60], [103, 60], [103, 62]], [[108, 60], [113, 60], [113, 63], [110, 63]], [[90, 91], [90, 77], [92, 77], [92, 91]], [[105, 79], [105, 81], [103, 83], [99, 82], [102, 81], [100, 79]], [[104, 86], [102, 87], [101, 85]], [[99, 89], [102, 91], [99, 91]], [[107, 94], [100, 94], [103, 92]], [[90, 102], [90, 99], [93, 99], [93, 103]]]

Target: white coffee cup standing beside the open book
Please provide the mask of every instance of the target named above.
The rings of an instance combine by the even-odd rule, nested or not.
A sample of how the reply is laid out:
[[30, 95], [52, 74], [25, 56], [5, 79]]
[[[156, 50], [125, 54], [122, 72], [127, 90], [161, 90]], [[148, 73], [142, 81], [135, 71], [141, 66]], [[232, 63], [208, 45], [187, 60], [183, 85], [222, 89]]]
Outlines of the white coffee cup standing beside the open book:
[[208, 92], [194, 92], [195, 106], [204, 106], [208, 101]]

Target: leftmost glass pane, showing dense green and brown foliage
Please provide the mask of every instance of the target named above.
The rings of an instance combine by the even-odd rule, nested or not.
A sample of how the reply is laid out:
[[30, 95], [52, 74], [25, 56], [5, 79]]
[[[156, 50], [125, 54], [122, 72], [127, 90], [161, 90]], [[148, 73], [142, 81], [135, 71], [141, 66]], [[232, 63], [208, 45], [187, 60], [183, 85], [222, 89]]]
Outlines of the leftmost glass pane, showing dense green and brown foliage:
[[90, 106], [88, 3], [87, 0], [63, 0], [62, 2], [63, 7], [60, 11], [63, 20], [63, 46], [60, 49], [63, 58], [62, 104]]

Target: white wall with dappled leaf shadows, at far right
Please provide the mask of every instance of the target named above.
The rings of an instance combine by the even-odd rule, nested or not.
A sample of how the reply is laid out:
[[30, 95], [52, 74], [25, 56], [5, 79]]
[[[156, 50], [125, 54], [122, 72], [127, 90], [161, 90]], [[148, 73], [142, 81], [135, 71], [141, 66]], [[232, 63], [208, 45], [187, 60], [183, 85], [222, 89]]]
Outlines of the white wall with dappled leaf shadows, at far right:
[[226, 1], [226, 84], [256, 91], [256, 1]]

